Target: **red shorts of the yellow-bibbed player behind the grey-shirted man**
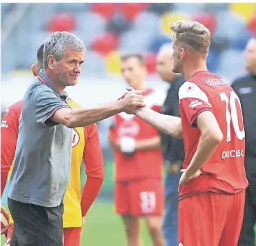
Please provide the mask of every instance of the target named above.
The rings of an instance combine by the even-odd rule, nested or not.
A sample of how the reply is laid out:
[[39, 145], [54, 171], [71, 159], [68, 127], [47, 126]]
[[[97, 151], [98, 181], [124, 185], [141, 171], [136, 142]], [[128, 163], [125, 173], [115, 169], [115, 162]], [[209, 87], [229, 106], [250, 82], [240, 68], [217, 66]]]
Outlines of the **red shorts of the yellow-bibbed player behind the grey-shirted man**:
[[[9, 225], [5, 246], [10, 246], [10, 238], [12, 238], [13, 223]], [[64, 228], [63, 238], [64, 246], [80, 246], [81, 227]]]

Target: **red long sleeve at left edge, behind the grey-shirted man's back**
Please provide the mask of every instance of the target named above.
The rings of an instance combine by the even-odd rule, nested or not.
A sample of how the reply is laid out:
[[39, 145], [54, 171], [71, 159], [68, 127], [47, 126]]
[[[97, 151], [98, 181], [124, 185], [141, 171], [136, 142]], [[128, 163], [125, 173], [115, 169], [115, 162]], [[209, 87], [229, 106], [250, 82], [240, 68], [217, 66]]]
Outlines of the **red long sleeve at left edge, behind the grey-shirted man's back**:
[[21, 107], [9, 107], [3, 114], [1, 123], [1, 196], [14, 159], [19, 132]]

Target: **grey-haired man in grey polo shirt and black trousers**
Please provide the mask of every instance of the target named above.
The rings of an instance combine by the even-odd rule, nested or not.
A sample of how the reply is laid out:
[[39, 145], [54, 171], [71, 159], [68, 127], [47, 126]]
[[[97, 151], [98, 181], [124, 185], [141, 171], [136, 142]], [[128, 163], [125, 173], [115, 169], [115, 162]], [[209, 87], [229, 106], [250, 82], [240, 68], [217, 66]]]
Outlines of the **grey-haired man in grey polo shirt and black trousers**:
[[52, 33], [44, 44], [44, 70], [23, 97], [8, 193], [16, 245], [63, 245], [63, 197], [70, 178], [71, 128], [144, 106], [142, 92], [137, 90], [119, 101], [71, 109], [64, 89], [77, 83], [84, 52], [83, 42], [74, 34]]

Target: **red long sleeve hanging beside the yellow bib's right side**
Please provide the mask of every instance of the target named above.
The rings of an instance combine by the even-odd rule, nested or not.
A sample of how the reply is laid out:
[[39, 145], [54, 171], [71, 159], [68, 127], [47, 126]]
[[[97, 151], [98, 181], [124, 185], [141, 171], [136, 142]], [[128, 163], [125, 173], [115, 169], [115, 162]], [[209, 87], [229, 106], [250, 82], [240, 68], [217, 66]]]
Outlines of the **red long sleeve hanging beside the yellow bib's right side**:
[[99, 194], [104, 181], [104, 161], [99, 142], [99, 132], [96, 124], [84, 127], [86, 145], [83, 152], [87, 180], [81, 195], [81, 212], [86, 216], [88, 209]]

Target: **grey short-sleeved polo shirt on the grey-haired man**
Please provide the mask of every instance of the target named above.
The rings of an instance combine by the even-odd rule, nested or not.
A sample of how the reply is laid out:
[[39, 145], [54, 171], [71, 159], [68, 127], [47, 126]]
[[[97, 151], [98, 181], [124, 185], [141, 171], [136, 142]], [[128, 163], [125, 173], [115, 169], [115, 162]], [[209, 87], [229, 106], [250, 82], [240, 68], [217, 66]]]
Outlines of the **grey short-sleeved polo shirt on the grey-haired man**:
[[56, 207], [63, 202], [70, 178], [72, 129], [52, 121], [69, 107], [41, 70], [23, 98], [19, 136], [8, 197], [23, 203]]

